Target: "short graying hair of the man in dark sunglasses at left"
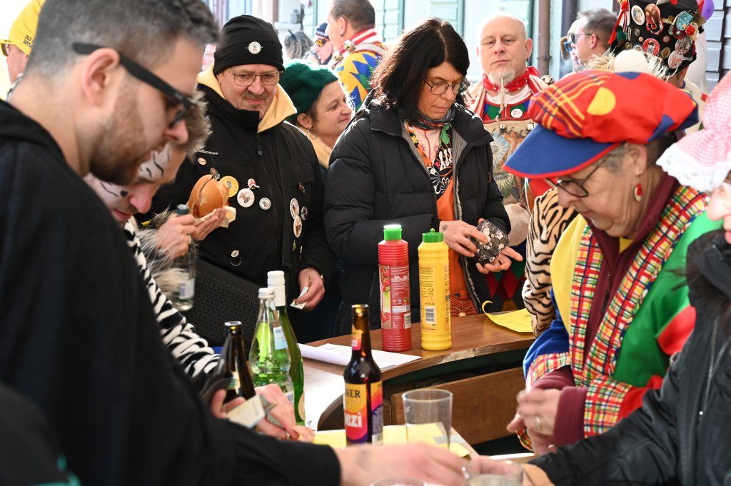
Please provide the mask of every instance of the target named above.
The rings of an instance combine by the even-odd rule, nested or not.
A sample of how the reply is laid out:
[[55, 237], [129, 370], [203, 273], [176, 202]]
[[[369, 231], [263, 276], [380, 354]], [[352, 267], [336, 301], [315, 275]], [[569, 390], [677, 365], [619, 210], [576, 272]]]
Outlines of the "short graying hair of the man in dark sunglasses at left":
[[48, 0], [26, 72], [54, 76], [79, 55], [74, 42], [113, 48], [151, 68], [184, 35], [205, 48], [219, 26], [201, 0]]

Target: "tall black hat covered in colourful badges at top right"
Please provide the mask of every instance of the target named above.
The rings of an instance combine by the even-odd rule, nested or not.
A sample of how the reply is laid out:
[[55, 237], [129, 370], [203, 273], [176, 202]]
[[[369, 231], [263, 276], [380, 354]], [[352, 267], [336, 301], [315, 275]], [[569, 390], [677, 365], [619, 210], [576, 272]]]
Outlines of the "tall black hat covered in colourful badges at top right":
[[610, 49], [640, 50], [662, 58], [671, 72], [680, 71], [695, 61], [704, 23], [696, 0], [622, 0]]

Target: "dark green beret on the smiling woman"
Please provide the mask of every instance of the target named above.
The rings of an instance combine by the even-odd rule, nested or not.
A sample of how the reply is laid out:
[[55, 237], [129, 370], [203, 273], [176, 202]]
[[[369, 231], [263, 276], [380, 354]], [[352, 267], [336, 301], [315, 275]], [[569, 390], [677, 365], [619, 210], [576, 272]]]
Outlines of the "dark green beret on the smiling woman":
[[295, 123], [297, 115], [310, 109], [322, 89], [337, 80], [336, 74], [327, 66], [317, 66], [302, 59], [289, 61], [279, 79], [279, 85], [289, 94], [297, 113], [287, 117], [287, 121]]

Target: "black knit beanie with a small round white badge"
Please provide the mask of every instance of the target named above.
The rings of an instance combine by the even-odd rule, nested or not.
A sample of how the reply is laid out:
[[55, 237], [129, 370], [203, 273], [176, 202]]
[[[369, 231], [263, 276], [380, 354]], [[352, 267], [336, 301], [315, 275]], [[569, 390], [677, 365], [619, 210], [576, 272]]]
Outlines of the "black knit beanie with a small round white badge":
[[284, 71], [281, 42], [272, 24], [253, 15], [239, 15], [221, 29], [223, 41], [213, 54], [213, 74], [234, 66], [266, 64]]

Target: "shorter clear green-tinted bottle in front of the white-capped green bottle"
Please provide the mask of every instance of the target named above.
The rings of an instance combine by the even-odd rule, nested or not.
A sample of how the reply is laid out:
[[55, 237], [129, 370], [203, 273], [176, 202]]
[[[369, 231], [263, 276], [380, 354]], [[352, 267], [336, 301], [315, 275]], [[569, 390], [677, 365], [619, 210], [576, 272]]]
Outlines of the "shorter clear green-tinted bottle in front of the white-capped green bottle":
[[292, 376], [289, 376], [291, 365], [287, 336], [277, 319], [274, 289], [259, 289], [259, 319], [249, 352], [249, 368], [254, 386], [276, 383], [294, 406], [295, 387]]

